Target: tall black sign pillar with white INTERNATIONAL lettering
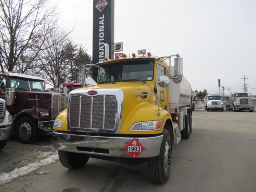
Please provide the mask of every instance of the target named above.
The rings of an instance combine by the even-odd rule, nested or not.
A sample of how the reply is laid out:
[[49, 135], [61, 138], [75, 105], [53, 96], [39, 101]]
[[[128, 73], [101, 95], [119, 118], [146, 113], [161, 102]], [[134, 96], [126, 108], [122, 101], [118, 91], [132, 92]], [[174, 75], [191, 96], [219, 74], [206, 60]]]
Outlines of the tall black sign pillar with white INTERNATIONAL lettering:
[[[92, 63], [104, 60], [104, 43], [114, 52], [114, 7], [115, 0], [93, 0]], [[114, 59], [114, 55], [108, 56]], [[93, 79], [97, 79], [97, 69], [93, 68]]]

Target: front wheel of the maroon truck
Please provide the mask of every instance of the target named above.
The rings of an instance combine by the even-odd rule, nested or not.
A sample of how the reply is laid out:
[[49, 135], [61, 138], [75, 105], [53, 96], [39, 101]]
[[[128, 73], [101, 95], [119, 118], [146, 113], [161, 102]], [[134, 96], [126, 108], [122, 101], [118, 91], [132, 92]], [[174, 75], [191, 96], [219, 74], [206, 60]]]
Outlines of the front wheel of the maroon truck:
[[25, 144], [36, 142], [39, 137], [39, 130], [29, 117], [20, 118], [15, 132], [18, 140]]

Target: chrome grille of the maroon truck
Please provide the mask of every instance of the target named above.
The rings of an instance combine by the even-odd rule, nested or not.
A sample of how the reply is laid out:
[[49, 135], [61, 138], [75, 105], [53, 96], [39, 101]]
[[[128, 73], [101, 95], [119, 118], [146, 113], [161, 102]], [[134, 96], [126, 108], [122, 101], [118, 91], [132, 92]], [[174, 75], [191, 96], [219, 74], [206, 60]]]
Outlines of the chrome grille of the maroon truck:
[[55, 119], [61, 111], [67, 108], [68, 94], [65, 96], [56, 93], [52, 97], [52, 118]]

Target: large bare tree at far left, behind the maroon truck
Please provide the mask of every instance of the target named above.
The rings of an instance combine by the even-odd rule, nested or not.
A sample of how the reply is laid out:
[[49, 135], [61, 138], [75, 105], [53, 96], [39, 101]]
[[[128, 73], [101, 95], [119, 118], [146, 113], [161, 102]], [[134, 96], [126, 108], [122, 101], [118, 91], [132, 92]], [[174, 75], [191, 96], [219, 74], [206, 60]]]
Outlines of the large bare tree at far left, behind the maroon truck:
[[35, 68], [45, 41], [56, 27], [56, 6], [49, 0], [0, 0], [0, 67], [19, 72]]

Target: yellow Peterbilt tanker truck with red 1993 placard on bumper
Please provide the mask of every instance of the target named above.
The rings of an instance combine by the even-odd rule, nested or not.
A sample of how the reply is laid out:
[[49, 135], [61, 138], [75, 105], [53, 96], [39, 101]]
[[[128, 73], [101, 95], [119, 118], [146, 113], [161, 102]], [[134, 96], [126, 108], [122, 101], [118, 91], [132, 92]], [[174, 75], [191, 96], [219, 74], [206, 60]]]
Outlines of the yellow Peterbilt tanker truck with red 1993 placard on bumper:
[[[182, 76], [180, 55], [156, 57], [146, 50], [138, 55], [84, 66], [98, 68], [97, 83], [86, 79], [84, 84], [93, 86], [69, 93], [68, 108], [52, 132], [64, 167], [81, 168], [90, 157], [147, 161], [151, 182], [168, 180], [172, 144], [192, 132], [191, 86]], [[166, 62], [171, 57], [175, 67]]]

